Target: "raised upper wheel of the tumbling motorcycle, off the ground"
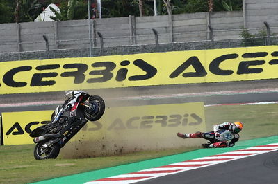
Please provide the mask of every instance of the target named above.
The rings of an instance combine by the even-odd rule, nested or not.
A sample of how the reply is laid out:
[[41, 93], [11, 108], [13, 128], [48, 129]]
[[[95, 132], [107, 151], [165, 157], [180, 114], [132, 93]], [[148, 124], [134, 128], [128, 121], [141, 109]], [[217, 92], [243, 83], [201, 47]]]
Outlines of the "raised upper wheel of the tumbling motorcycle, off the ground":
[[85, 107], [84, 115], [85, 118], [89, 121], [96, 121], [101, 118], [104, 114], [105, 103], [104, 100], [97, 95], [92, 95], [89, 98], [90, 104], [92, 104], [92, 108]]

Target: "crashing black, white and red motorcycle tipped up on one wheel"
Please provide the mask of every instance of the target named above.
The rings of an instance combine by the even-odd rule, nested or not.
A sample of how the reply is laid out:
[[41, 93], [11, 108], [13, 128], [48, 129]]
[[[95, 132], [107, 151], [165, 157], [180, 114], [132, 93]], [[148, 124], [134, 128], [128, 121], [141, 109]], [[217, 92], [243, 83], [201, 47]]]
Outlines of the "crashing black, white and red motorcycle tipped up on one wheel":
[[60, 149], [90, 121], [97, 121], [104, 114], [105, 103], [98, 95], [84, 91], [69, 91], [67, 100], [51, 115], [51, 122], [31, 131], [35, 142], [36, 160], [57, 158]]

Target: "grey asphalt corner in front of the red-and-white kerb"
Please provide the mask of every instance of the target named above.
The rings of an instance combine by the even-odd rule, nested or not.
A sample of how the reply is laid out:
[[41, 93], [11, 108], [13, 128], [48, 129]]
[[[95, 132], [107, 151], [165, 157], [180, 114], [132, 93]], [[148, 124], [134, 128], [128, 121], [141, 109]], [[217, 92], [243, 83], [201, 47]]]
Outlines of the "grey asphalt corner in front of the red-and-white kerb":
[[[277, 140], [278, 141], [278, 140]], [[250, 156], [218, 165], [193, 169], [178, 174], [154, 178], [138, 184], [185, 184], [185, 183], [214, 183], [214, 184], [277, 184], [278, 183], [278, 151]]]

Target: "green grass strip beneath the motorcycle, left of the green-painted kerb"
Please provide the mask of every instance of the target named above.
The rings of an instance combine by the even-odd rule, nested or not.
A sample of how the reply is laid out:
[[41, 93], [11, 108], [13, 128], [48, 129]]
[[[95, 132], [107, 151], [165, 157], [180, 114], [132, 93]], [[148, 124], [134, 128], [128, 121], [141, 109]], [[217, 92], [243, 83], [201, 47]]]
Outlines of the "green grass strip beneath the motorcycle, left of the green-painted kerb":
[[58, 157], [56, 160], [35, 160], [33, 158], [33, 148], [34, 145], [0, 147], [0, 183], [30, 183], [196, 149], [179, 148], [163, 151], [142, 151], [120, 156], [83, 159], [63, 159]]

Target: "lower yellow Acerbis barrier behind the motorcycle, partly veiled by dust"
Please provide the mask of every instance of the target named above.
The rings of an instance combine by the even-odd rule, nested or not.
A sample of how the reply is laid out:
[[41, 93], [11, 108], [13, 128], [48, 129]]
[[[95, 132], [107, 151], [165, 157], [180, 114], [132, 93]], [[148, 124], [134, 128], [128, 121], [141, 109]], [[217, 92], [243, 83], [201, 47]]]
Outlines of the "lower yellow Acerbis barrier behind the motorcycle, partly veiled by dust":
[[[50, 120], [52, 111], [2, 113], [4, 145], [32, 144], [29, 132]], [[66, 149], [85, 149], [97, 155], [113, 154], [119, 148], [155, 149], [184, 145], [177, 132], [205, 131], [204, 104], [159, 104], [107, 108], [97, 122], [88, 122]], [[85, 144], [82, 145], [82, 144]], [[89, 143], [88, 143], [89, 142]], [[89, 146], [88, 146], [89, 145]], [[84, 150], [82, 151], [84, 153]]]

